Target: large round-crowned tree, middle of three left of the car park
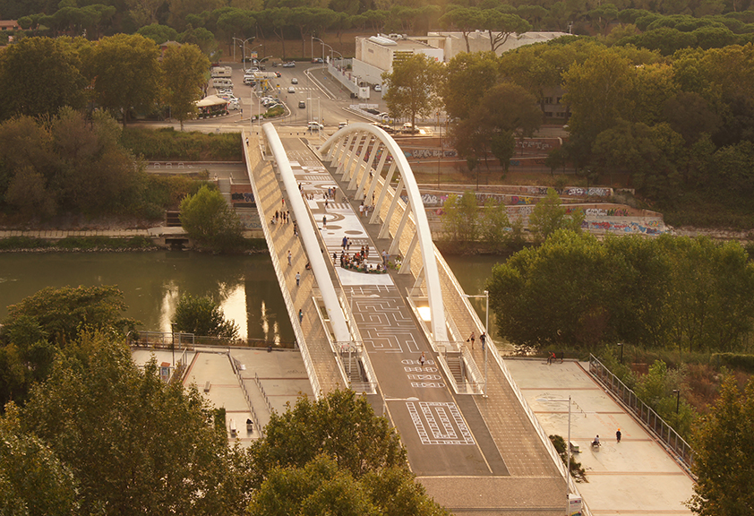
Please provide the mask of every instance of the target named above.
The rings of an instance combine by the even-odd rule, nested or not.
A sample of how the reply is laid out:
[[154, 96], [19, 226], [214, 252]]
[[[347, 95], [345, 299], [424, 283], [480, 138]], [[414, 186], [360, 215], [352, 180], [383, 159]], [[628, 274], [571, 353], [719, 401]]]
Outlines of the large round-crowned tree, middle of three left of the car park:
[[158, 57], [152, 39], [116, 34], [100, 39], [85, 60], [100, 106], [123, 116], [123, 125], [132, 109], [155, 106], [162, 80]]

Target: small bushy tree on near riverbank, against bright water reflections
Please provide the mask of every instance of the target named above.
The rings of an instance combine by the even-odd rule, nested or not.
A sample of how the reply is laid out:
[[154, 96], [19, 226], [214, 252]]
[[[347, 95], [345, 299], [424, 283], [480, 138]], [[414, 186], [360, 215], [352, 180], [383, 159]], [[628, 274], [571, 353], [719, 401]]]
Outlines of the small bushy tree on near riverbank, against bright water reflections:
[[178, 331], [186, 331], [198, 336], [236, 339], [238, 325], [226, 321], [222, 309], [210, 297], [181, 296], [173, 318]]

